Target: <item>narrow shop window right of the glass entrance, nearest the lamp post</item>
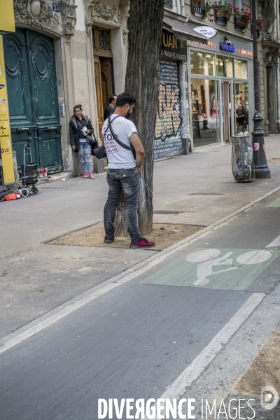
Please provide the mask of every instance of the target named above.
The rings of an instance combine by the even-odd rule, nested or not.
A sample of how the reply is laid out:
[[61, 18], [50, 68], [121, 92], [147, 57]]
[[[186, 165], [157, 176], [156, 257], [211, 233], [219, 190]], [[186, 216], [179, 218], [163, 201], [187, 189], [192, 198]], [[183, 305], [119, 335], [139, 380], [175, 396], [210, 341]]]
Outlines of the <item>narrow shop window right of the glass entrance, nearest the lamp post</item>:
[[248, 131], [248, 83], [235, 82], [235, 132]]

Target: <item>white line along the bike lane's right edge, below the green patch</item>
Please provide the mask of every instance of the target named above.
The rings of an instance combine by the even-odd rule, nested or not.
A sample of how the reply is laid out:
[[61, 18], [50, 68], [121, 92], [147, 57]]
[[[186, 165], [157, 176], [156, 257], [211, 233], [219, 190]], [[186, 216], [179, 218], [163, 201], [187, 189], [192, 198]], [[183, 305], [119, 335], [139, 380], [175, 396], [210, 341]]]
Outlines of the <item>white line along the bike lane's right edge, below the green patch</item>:
[[221, 349], [223, 349], [223, 346], [228, 343], [232, 335], [237, 332], [239, 327], [241, 327], [244, 321], [246, 321], [246, 318], [251, 315], [264, 297], [265, 293], [253, 293], [253, 295], [251, 295], [251, 297], [249, 297], [242, 305], [239, 311], [232, 316], [224, 328], [218, 332], [216, 337], [209, 342], [208, 346], [202, 350], [195, 360], [188, 365], [186, 370], [184, 370], [174, 383], [169, 386], [160, 399], [173, 400], [181, 398], [181, 396], [186, 392], [186, 388], [193, 384], [195, 379], [200, 377], [200, 374], [202, 374], [202, 372], [209, 366], [211, 361], [217, 356]]

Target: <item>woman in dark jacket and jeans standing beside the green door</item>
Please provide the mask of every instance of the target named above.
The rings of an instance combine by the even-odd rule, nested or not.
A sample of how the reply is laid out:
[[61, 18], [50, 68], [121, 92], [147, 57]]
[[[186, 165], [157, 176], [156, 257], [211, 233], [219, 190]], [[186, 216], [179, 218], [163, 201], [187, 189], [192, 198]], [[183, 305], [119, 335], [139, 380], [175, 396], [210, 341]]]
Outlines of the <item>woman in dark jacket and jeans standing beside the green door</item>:
[[93, 134], [94, 130], [90, 118], [83, 115], [82, 106], [75, 105], [73, 116], [69, 123], [70, 144], [72, 151], [80, 155], [80, 164], [83, 167], [83, 177], [95, 179], [92, 173], [92, 149], [87, 143], [87, 134]]

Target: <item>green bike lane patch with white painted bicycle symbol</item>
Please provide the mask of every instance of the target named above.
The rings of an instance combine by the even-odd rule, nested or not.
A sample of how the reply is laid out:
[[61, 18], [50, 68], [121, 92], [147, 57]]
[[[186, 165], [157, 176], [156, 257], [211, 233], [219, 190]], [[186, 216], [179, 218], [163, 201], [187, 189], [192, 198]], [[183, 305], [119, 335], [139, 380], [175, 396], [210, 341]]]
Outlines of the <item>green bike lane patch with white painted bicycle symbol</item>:
[[279, 255], [278, 250], [195, 248], [141, 283], [245, 290]]

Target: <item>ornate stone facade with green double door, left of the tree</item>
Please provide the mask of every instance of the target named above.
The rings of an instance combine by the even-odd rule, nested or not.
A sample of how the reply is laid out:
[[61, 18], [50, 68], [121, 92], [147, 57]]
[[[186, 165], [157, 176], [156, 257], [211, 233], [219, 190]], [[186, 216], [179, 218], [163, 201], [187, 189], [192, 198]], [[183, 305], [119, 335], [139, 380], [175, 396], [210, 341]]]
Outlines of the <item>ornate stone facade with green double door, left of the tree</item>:
[[38, 167], [80, 174], [69, 120], [82, 104], [99, 133], [108, 97], [123, 92], [129, 1], [14, 0], [14, 11], [3, 43], [18, 167], [28, 143]]

